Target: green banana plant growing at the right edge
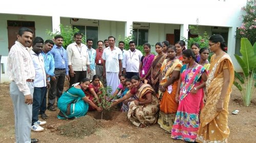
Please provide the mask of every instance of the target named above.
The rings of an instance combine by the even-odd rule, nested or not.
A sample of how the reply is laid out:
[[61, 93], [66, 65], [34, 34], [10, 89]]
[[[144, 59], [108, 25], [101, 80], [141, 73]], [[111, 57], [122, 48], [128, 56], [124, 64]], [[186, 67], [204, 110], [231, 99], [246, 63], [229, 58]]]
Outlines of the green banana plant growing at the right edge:
[[243, 76], [235, 72], [234, 75], [240, 83], [234, 81], [233, 84], [241, 92], [244, 105], [249, 106], [256, 87], [256, 42], [252, 46], [247, 38], [242, 38], [240, 52], [242, 57], [237, 54], [234, 56], [243, 70]]

